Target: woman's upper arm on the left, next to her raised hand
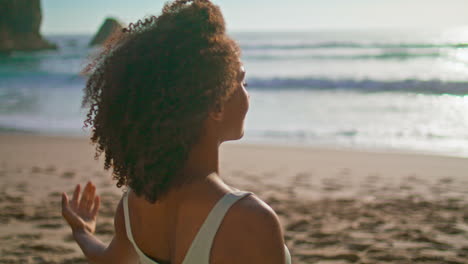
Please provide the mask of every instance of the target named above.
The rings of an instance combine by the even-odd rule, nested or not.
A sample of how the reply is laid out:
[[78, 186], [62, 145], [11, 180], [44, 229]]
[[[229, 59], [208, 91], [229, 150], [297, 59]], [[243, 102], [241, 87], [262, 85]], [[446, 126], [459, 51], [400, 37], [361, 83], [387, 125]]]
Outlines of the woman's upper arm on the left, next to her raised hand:
[[115, 212], [114, 228], [114, 237], [106, 249], [108, 259], [112, 259], [112, 263], [137, 263], [138, 255], [133, 244], [128, 240], [125, 229], [123, 199], [120, 200]]

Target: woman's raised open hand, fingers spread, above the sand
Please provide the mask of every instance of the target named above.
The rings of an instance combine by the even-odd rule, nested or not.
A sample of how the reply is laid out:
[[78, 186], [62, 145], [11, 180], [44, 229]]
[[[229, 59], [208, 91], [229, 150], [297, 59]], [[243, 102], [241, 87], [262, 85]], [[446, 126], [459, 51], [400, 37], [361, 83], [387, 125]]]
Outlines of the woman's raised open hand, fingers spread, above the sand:
[[88, 182], [81, 194], [81, 186], [76, 185], [71, 201], [68, 201], [66, 193], [62, 193], [62, 216], [70, 225], [73, 232], [96, 230], [96, 218], [101, 203], [96, 195], [96, 186]]

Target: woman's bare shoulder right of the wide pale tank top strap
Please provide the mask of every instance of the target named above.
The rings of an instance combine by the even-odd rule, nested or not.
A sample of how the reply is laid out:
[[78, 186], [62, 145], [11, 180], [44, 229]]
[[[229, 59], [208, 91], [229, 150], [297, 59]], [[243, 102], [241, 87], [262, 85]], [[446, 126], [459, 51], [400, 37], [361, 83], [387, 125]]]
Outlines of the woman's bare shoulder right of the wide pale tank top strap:
[[237, 201], [216, 235], [212, 263], [284, 263], [284, 238], [275, 211], [256, 195]]

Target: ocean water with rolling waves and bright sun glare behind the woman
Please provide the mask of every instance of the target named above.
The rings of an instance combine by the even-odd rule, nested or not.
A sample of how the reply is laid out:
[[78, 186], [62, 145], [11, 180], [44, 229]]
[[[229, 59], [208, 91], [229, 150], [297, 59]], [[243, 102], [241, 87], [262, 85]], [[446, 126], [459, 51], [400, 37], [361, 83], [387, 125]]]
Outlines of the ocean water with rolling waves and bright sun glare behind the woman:
[[[468, 28], [235, 32], [251, 107], [244, 141], [468, 157]], [[0, 57], [0, 131], [87, 135], [90, 35]]]

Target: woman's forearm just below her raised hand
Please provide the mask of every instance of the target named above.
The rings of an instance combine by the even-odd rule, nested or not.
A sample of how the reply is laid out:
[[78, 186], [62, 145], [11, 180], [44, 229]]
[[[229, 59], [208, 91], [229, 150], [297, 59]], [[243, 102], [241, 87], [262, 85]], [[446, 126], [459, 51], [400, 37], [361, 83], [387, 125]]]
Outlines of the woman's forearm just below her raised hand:
[[91, 263], [109, 263], [105, 259], [107, 246], [93, 234], [84, 229], [75, 230], [73, 237]]

